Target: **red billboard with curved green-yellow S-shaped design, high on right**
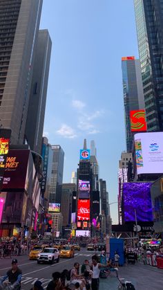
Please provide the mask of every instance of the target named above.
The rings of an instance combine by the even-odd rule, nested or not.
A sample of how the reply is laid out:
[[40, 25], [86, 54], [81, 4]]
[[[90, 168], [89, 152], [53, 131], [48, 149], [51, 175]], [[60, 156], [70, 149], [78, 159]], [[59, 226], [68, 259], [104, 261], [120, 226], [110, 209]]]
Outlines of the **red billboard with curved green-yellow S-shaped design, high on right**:
[[130, 111], [131, 132], [146, 132], [145, 110]]

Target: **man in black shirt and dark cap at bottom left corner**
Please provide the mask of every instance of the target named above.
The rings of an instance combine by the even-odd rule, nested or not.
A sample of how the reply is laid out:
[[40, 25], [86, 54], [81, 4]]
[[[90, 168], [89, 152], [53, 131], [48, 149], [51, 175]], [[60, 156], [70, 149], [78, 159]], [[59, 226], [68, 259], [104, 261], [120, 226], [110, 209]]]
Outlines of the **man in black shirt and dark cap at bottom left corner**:
[[0, 284], [8, 279], [8, 281], [14, 287], [13, 289], [21, 289], [22, 272], [21, 269], [19, 269], [17, 266], [17, 259], [12, 260], [11, 266], [12, 268], [8, 270], [3, 278], [0, 279]]

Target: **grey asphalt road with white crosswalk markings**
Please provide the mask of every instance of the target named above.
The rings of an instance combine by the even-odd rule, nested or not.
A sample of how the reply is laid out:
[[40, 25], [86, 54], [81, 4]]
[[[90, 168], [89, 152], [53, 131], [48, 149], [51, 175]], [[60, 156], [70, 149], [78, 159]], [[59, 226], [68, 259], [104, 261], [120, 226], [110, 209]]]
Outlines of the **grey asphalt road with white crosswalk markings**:
[[[98, 253], [98, 252], [96, 252]], [[81, 251], [75, 251], [75, 257], [71, 259], [60, 258], [59, 263], [52, 265], [37, 264], [37, 261], [31, 261], [27, 255], [17, 257], [19, 268], [23, 273], [21, 287], [24, 290], [29, 290], [37, 279], [41, 280], [44, 289], [46, 289], [48, 282], [52, 278], [52, 273], [55, 271], [63, 271], [64, 269], [70, 270], [73, 268], [75, 262], [83, 264], [84, 260], [91, 260], [93, 251], [86, 251], [86, 248], [81, 248]], [[0, 277], [6, 274], [10, 269], [11, 261], [9, 257], [0, 260]]]

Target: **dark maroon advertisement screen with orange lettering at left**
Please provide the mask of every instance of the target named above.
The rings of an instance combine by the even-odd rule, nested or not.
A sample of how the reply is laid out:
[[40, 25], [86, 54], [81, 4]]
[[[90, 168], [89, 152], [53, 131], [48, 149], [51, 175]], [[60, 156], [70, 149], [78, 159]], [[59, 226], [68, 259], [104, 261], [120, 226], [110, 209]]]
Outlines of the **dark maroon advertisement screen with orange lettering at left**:
[[3, 190], [24, 189], [30, 150], [9, 150], [3, 174]]

